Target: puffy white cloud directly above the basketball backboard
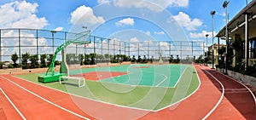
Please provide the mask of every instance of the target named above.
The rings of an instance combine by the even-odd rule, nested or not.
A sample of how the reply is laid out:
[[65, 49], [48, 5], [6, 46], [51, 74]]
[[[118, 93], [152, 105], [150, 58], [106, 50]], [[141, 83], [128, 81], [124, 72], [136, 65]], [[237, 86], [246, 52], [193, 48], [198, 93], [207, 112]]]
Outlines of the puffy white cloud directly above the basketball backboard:
[[72, 12], [70, 22], [73, 25], [96, 25], [104, 23], [105, 20], [102, 16], [96, 16], [90, 7], [83, 5]]

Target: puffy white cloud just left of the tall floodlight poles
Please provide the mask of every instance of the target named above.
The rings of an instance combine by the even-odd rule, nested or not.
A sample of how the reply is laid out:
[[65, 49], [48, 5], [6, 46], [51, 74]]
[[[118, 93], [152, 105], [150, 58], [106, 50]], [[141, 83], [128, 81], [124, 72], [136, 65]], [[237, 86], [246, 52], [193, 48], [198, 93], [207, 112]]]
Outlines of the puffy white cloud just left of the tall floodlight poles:
[[197, 26], [202, 25], [202, 21], [199, 19], [191, 19], [188, 14], [183, 12], [179, 12], [177, 15], [172, 16], [169, 22], [173, 22], [173, 20], [180, 23], [180, 26], [185, 27], [188, 31], [195, 31]]

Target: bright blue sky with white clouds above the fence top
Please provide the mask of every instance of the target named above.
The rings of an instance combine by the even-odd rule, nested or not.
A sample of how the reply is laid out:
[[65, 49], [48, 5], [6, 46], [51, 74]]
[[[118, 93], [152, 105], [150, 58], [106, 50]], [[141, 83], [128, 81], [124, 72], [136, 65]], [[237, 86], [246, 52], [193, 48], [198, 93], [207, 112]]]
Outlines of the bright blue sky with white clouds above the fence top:
[[[224, 0], [1, 0], [0, 28], [79, 32], [87, 26], [92, 35], [124, 41], [205, 41], [207, 33], [212, 35], [211, 10], [216, 11], [214, 33], [224, 27], [223, 3]], [[230, 20], [245, 6], [246, 0], [230, 0]]]

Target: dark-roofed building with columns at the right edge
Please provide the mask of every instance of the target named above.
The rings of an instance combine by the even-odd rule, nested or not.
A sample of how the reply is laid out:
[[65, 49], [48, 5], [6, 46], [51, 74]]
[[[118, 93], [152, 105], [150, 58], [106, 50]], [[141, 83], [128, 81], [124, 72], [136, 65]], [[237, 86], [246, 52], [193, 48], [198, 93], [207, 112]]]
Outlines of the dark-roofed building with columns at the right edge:
[[[228, 37], [231, 37], [228, 46], [231, 45], [233, 50], [232, 54], [228, 54], [232, 57], [231, 66], [242, 64], [247, 69], [247, 66], [256, 64], [256, 0], [241, 9], [227, 26]], [[218, 41], [225, 38], [225, 26], [216, 37]]]

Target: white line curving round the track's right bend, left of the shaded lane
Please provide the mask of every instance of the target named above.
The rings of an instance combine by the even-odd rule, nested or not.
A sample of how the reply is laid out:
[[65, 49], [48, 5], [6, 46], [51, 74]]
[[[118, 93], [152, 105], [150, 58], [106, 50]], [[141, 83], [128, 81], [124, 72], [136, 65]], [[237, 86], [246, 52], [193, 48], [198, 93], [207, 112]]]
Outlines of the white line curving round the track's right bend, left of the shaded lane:
[[[200, 67], [201, 67], [201, 66], [200, 66]], [[202, 67], [201, 67], [201, 70], [206, 71], [206, 70], [205, 70], [204, 68], [202, 68]], [[209, 71], [206, 71], [206, 72], [207, 72], [207, 74], [209, 74], [211, 77], [213, 77], [213, 75], [212, 75]], [[220, 102], [221, 102], [221, 101], [223, 100], [223, 98], [224, 98], [224, 85], [218, 80], [218, 78], [216, 78], [216, 77], [213, 77], [213, 78], [221, 85], [221, 87], [222, 87], [222, 94], [221, 94], [221, 96], [220, 96], [220, 98], [219, 98], [217, 104], [212, 108], [211, 111], [209, 111], [209, 112], [207, 113], [207, 115], [206, 115], [205, 117], [202, 118], [202, 120], [207, 119], [207, 117], [209, 117], [209, 116], [212, 114], [212, 112], [216, 110], [216, 108], [218, 107], [218, 105], [220, 104]]]

